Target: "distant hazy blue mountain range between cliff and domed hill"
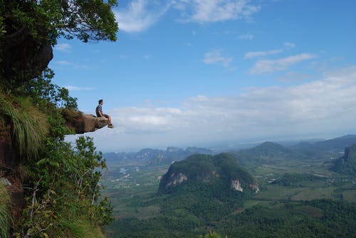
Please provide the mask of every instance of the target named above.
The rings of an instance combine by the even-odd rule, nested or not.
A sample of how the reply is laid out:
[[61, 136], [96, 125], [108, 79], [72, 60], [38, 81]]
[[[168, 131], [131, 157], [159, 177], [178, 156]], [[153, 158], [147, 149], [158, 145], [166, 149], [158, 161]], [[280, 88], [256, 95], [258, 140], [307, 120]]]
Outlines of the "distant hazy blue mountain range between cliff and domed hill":
[[104, 153], [103, 157], [108, 164], [143, 164], [143, 165], [169, 165], [173, 161], [182, 161], [184, 158], [195, 153], [213, 154], [207, 148], [188, 147], [182, 148], [168, 147], [165, 151], [153, 148], [144, 148], [138, 152], [131, 153]]

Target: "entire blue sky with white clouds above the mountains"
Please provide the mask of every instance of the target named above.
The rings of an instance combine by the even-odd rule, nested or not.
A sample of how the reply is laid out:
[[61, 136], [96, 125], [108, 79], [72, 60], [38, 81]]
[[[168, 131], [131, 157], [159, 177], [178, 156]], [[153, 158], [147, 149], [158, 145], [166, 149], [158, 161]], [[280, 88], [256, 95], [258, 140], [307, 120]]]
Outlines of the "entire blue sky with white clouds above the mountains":
[[[58, 40], [57, 85], [102, 151], [356, 134], [356, 1], [133, 0], [117, 41]], [[69, 136], [68, 139], [73, 139]]]

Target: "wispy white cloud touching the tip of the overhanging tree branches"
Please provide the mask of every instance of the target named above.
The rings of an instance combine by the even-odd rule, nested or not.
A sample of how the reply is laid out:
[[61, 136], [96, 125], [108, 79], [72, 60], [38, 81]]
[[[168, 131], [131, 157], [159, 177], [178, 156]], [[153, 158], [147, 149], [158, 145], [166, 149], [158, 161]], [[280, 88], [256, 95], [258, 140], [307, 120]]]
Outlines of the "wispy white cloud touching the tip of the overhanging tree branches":
[[170, 4], [163, 5], [155, 4], [155, 1], [132, 1], [127, 9], [114, 11], [119, 29], [129, 33], [145, 31], [169, 9]]

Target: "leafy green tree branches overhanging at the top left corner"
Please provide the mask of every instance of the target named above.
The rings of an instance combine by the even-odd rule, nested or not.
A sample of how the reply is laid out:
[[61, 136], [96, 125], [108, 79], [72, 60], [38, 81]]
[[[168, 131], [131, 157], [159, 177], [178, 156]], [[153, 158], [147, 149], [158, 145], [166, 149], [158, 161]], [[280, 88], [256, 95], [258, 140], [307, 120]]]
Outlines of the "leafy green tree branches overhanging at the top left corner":
[[8, 46], [10, 40], [24, 35], [51, 45], [61, 36], [75, 36], [84, 42], [115, 41], [118, 28], [112, 6], [117, 6], [117, 1], [1, 0], [1, 46]]

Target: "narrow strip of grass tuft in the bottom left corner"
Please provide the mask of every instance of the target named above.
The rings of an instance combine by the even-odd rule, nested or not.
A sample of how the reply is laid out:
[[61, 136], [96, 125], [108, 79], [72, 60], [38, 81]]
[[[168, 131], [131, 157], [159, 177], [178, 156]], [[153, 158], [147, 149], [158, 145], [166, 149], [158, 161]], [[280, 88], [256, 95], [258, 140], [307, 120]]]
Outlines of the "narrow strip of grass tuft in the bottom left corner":
[[0, 181], [0, 237], [9, 237], [11, 227], [10, 198], [4, 183]]

